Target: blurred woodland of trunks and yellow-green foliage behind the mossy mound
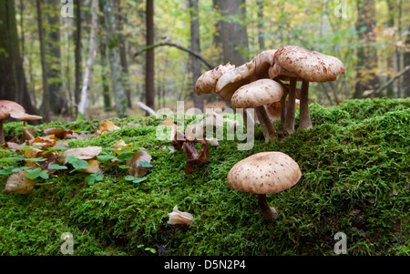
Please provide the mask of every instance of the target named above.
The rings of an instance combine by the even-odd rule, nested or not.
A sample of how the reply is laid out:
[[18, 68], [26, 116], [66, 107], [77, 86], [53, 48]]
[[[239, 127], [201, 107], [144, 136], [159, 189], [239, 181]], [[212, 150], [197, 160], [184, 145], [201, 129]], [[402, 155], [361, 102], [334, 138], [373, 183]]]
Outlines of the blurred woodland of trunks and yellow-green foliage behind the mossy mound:
[[[297, 45], [342, 60], [311, 99], [410, 96], [408, 0], [0, 0], [0, 99], [51, 119], [223, 106], [207, 70]], [[227, 103], [229, 105], [229, 102]]]

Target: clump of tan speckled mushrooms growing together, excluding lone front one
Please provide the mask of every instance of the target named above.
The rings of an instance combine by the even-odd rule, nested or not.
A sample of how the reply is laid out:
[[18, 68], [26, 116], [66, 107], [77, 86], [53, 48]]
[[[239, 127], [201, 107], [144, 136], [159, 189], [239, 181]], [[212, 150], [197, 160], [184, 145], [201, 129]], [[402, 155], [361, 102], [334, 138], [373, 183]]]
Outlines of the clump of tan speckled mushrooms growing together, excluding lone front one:
[[[278, 50], [262, 51], [250, 62], [238, 67], [228, 63], [207, 71], [197, 80], [195, 91], [198, 95], [215, 92], [231, 100], [231, 107], [244, 109], [245, 122], [249, 119], [246, 109], [254, 108], [268, 142], [278, 137], [269, 115], [270, 104], [280, 102], [282, 130], [292, 134], [295, 102], [299, 99], [299, 127], [311, 128], [309, 82], [334, 81], [341, 74], [344, 74], [343, 63], [334, 56], [300, 46], [283, 46]], [[298, 81], [302, 82], [300, 88], [297, 87]]]

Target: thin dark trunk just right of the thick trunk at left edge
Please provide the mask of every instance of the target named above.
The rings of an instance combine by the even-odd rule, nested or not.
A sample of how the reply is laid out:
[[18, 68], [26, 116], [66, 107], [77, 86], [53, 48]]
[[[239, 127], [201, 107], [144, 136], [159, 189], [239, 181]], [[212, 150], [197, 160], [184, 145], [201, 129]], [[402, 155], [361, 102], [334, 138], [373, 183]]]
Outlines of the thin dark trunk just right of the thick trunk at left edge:
[[48, 96], [47, 83], [47, 69], [46, 69], [46, 46], [43, 32], [43, 16], [41, 14], [42, 5], [41, 0], [36, 0], [37, 8], [37, 23], [38, 23], [38, 39], [40, 42], [40, 56], [41, 56], [41, 71], [43, 74], [43, 119], [46, 122], [50, 121], [50, 101]]

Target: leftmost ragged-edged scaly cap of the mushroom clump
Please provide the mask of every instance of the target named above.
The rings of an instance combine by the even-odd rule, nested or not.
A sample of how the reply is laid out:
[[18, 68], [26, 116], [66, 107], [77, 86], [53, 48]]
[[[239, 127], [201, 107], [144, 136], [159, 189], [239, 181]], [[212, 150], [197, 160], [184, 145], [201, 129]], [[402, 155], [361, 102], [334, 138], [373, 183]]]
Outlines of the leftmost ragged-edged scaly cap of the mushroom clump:
[[195, 84], [195, 93], [199, 96], [212, 93], [215, 91], [215, 86], [220, 76], [223, 76], [234, 68], [235, 66], [228, 63], [225, 66], [220, 65], [205, 72], [198, 78], [197, 83]]

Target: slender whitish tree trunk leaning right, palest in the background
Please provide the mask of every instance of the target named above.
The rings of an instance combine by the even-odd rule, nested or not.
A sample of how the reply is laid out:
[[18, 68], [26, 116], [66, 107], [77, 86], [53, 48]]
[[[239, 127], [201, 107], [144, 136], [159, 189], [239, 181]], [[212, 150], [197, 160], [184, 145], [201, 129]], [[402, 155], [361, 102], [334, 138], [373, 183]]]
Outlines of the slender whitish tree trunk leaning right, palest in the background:
[[77, 107], [77, 121], [82, 121], [89, 117], [87, 113], [87, 107], [89, 107], [89, 97], [88, 97], [88, 82], [91, 77], [94, 60], [97, 56], [97, 42], [96, 42], [96, 31], [98, 23], [98, 0], [93, 0], [91, 4], [91, 32], [89, 35], [89, 47], [88, 47], [88, 58], [87, 64], [84, 71], [83, 86], [81, 88], [81, 94]]

